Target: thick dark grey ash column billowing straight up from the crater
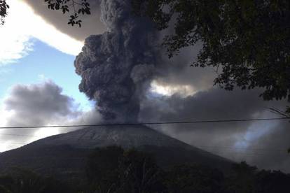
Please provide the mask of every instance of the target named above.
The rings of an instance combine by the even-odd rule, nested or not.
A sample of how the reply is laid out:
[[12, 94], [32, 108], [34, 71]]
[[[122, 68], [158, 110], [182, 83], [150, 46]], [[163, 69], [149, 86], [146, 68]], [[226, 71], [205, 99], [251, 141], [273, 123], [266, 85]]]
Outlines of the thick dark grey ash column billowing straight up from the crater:
[[101, 12], [108, 31], [85, 39], [74, 63], [79, 89], [97, 101], [104, 120], [135, 122], [156, 64], [156, 33], [149, 21], [132, 15], [130, 1], [103, 0]]

